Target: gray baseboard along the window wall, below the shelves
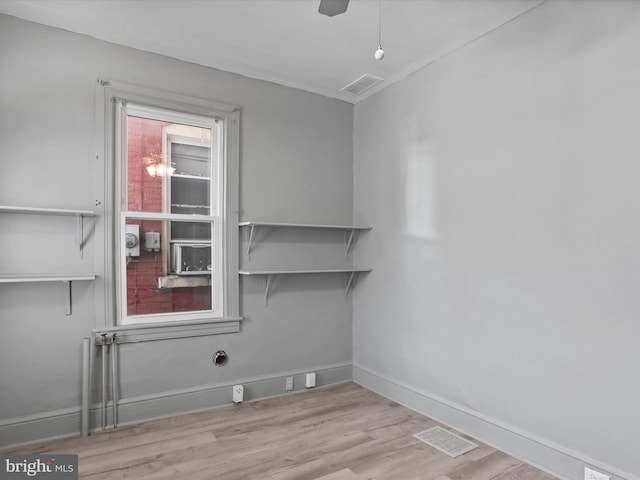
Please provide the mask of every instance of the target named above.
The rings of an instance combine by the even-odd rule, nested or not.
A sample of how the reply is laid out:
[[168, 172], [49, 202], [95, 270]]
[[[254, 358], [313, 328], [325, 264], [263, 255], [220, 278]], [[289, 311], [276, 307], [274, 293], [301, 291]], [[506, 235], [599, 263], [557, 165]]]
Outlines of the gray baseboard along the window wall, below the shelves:
[[[352, 365], [344, 363], [124, 398], [118, 402], [118, 425], [124, 426], [229, 405], [232, 403], [231, 387], [236, 384], [244, 385], [245, 402], [296, 393], [306, 390], [305, 373], [307, 372], [316, 372], [318, 387], [352, 380]], [[284, 390], [286, 377], [294, 377], [292, 392]], [[112, 405], [109, 402], [107, 404], [108, 428], [113, 424], [112, 413]], [[91, 430], [101, 430], [102, 408], [100, 404], [92, 406], [90, 417]], [[79, 407], [11, 418], [0, 422], [0, 449], [8, 450], [30, 443], [79, 435], [80, 428]]]

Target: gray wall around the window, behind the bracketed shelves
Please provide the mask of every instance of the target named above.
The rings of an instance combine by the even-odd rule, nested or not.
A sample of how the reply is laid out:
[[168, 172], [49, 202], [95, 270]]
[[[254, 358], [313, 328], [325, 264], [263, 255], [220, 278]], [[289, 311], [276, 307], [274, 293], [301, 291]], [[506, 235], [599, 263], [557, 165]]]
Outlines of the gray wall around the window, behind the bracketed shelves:
[[[104, 203], [96, 197], [103, 179], [94, 160], [98, 78], [239, 105], [241, 220], [350, 223], [352, 105], [8, 16], [0, 16], [0, 204], [93, 209], [96, 200]], [[74, 219], [2, 214], [0, 222], [1, 272], [97, 268], [104, 274], [104, 253], [95, 251], [91, 235], [78, 258]], [[266, 231], [259, 240], [251, 265], [349, 261], [341, 233]], [[349, 379], [351, 298], [344, 282], [332, 274], [278, 277], [265, 307], [263, 279], [241, 279], [241, 333], [121, 347], [124, 403], [243, 381], [255, 383], [249, 398], [282, 393], [284, 383], [264, 382], [312, 370], [326, 370], [320, 384]], [[0, 285], [0, 445], [30, 439], [13, 429], [25, 419], [73, 414], [65, 428], [79, 430], [81, 340], [96, 327], [94, 288], [74, 283], [73, 315], [66, 317], [62, 284]], [[223, 368], [211, 362], [219, 348], [230, 356]], [[325, 368], [334, 366], [337, 371]], [[231, 389], [214, 397], [211, 404], [230, 401]], [[171, 413], [171, 406], [155, 413]], [[145, 415], [131, 412], [127, 419]], [[65, 432], [42, 426], [36, 435], [59, 433]]]

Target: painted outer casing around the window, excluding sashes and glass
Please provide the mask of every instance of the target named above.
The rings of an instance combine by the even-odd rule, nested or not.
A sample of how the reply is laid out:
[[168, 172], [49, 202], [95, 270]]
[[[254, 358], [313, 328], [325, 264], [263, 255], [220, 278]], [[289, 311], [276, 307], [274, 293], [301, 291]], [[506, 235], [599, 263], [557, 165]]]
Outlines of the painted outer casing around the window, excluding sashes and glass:
[[[132, 341], [159, 340], [165, 338], [182, 338], [185, 336], [202, 336], [219, 333], [232, 333], [240, 330], [240, 295], [238, 276], [238, 205], [239, 205], [239, 133], [240, 111], [235, 105], [214, 102], [207, 99], [189, 97], [173, 92], [165, 92], [150, 88], [106, 82], [98, 80], [96, 86], [96, 161], [98, 170], [102, 168], [103, 178], [98, 175], [96, 184], [96, 329], [94, 332], [106, 331], [128, 332]], [[225, 122], [224, 149], [227, 162], [223, 165], [226, 192], [222, 195], [220, 214], [226, 228], [222, 235], [223, 259], [222, 275], [226, 288], [221, 303], [223, 316], [211, 318], [183, 317], [185, 321], [160, 321], [152, 319], [148, 323], [129, 325], [117, 324], [117, 303], [115, 279], [116, 268], [119, 268], [116, 257], [115, 241], [121, 239], [114, 235], [120, 230], [120, 219], [116, 218], [115, 201], [120, 201], [119, 189], [116, 185], [116, 168], [120, 168], [116, 159], [114, 143], [116, 129], [119, 128], [117, 105], [119, 102], [130, 102], [136, 105], [147, 105], [153, 108], [185, 112], [192, 118], [200, 115], [207, 118], [219, 118]], [[164, 117], [166, 118], [166, 117]], [[102, 200], [102, 199], [103, 200]], [[131, 212], [133, 213], [133, 212]], [[135, 212], [139, 215], [141, 212]], [[174, 317], [175, 318], [175, 317]], [[223, 327], [223, 328], [221, 328]]]

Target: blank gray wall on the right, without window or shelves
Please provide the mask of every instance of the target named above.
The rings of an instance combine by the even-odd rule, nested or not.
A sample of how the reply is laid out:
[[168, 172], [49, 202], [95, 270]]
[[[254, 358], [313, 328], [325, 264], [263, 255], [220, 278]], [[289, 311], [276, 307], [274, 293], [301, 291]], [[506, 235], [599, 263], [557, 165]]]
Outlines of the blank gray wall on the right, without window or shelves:
[[548, 2], [356, 106], [357, 380], [640, 476], [638, 45]]

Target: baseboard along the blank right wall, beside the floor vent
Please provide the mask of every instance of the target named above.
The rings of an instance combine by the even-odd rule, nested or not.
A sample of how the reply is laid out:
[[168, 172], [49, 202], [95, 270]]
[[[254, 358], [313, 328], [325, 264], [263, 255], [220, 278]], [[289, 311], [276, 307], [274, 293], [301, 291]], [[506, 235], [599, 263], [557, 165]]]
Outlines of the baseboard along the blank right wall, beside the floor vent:
[[591, 466], [610, 475], [611, 480], [638, 480], [638, 477], [620, 469], [603, 465], [561, 445], [537, 438], [360, 365], [353, 366], [353, 381], [560, 479], [582, 479], [584, 467]]

